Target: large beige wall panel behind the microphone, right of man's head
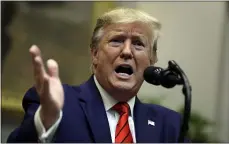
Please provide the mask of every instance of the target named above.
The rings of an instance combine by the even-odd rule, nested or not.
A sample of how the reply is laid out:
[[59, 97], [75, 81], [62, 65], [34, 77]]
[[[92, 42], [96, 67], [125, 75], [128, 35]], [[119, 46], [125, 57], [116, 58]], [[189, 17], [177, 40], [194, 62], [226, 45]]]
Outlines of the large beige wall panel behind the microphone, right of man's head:
[[[177, 61], [193, 87], [192, 109], [218, 121], [225, 2], [138, 2], [136, 7], [162, 23], [157, 65], [167, 67], [168, 60]], [[183, 104], [181, 87], [168, 90], [144, 84], [140, 95], [166, 96], [163, 105], [173, 109]]]

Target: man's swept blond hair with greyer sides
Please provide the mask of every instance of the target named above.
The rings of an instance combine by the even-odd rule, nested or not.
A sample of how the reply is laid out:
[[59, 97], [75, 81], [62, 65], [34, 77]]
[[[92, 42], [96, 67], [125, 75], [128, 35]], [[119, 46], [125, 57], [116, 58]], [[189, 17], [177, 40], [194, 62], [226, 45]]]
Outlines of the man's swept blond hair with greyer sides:
[[161, 24], [160, 22], [150, 16], [149, 14], [131, 8], [116, 8], [114, 10], [104, 13], [97, 19], [93, 35], [91, 38], [91, 48], [97, 48], [98, 42], [103, 36], [103, 30], [106, 26], [117, 23], [133, 23], [141, 22], [149, 25], [152, 31], [151, 49], [153, 49], [155, 42], [159, 38]]

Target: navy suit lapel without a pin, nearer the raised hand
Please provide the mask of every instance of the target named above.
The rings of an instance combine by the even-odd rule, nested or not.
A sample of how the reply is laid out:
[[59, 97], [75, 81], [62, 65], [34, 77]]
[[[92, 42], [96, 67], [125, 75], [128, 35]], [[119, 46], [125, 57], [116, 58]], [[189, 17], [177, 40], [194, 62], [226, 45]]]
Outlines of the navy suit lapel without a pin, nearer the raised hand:
[[109, 123], [100, 93], [93, 76], [81, 85], [81, 106], [87, 117], [90, 129], [96, 143], [111, 143]]

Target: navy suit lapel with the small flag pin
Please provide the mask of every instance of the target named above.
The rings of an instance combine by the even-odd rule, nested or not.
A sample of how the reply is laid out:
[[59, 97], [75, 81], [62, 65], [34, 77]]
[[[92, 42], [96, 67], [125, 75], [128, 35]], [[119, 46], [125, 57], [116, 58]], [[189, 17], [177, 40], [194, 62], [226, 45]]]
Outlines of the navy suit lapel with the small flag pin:
[[[162, 119], [156, 111], [136, 98], [134, 107], [135, 133], [137, 143], [160, 142]], [[154, 125], [153, 125], [154, 124]]]

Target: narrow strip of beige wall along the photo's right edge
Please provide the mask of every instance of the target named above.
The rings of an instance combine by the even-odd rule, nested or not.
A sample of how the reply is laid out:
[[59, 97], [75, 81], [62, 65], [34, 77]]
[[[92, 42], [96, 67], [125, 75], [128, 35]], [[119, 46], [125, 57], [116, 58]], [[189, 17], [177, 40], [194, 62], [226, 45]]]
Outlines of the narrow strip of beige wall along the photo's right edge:
[[219, 127], [215, 133], [223, 142], [229, 142], [229, 13], [226, 17], [224, 35], [221, 57], [222, 66], [220, 68], [219, 79], [219, 97], [217, 97], [219, 103], [217, 105], [216, 114], [219, 120]]

